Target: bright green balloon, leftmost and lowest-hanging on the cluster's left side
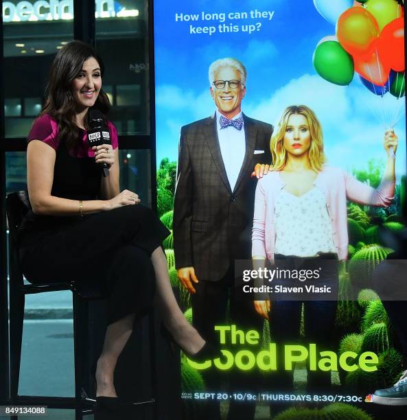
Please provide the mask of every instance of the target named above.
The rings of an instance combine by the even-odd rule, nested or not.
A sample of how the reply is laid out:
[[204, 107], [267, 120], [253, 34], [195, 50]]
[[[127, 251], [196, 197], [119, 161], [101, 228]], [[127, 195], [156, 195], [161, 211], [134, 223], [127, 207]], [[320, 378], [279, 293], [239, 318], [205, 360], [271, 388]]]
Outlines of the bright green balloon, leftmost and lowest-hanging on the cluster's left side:
[[318, 45], [312, 64], [321, 78], [328, 82], [346, 86], [353, 79], [353, 58], [336, 41], [329, 40]]

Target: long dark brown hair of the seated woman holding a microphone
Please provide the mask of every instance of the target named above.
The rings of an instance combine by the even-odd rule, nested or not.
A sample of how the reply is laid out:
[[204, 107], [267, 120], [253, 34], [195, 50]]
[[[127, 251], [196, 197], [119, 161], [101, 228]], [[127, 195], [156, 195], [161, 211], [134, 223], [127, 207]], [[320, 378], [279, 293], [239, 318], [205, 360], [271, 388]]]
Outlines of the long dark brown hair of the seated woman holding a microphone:
[[[71, 93], [71, 86], [73, 80], [82, 70], [84, 62], [91, 57], [98, 62], [103, 77], [102, 58], [91, 45], [74, 40], [58, 51], [49, 72], [46, 89], [47, 101], [40, 113], [40, 116], [49, 114], [58, 122], [58, 139], [65, 139], [67, 147], [71, 149], [80, 144], [80, 130], [75, 119], [76, 102]], [[111, 108], [108, 96], [102, 89], [100, 89], [92, 108], [100, 110], [104, 115]]]

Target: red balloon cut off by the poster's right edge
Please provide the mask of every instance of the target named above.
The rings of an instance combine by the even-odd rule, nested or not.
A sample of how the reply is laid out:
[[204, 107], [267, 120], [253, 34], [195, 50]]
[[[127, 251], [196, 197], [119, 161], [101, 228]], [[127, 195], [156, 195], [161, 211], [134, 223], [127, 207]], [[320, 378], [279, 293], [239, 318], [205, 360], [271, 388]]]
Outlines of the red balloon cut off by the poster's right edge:
[[388, 23], [377, 40], [380, 60], [395, 71], [404, 71], [404, 18]]

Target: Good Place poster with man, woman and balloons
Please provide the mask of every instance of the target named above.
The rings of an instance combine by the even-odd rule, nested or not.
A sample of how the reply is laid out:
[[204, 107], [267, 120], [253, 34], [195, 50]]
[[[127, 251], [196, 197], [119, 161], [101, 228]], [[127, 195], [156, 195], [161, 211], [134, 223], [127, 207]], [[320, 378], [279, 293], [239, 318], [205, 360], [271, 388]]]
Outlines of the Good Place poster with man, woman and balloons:
[[182, 355], [186, 419], [406, 409], [402, 263], [380, 266], [404, 229], [403, 3], [154, 1], [170, 279], [222, 353]]

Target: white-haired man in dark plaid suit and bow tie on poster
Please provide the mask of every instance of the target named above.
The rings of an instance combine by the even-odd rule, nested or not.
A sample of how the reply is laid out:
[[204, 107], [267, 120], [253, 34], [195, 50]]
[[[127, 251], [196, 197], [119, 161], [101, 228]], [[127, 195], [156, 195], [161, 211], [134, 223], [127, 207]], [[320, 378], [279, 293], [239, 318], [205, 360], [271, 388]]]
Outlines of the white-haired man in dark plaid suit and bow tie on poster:
[[[178, 278], [191, 293], [194, 326], [216, 343], [214, 326], [225, 325], [229, 299], [231, 324], [262, 329], [253, 303], [234, 287], [234, 261], [251, 259], [257, 183], [251, 174], [257, 163], [271, 161], [272, 126], [242, 113], [246, 69], [240, 61], [213, 62], [209, 82], [216, 113], [181, 128], [173, 231]], [[221, 379], [221, 371], [205, 374], [213, 391], [220, 390]], [[253, 390], [258, 379], [253, 372], [234, 373], [231, 390]], [[220, 419], [219, 404], [203, 411], [202, 418]], [[255, 404], [231, 399], [228, 419], [250, 420], [254, 411]]]

